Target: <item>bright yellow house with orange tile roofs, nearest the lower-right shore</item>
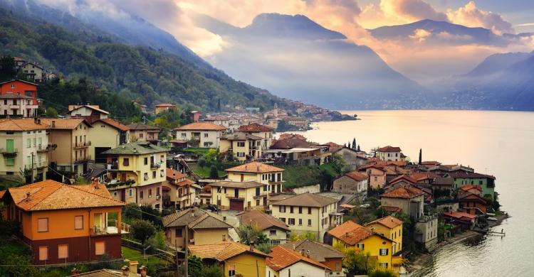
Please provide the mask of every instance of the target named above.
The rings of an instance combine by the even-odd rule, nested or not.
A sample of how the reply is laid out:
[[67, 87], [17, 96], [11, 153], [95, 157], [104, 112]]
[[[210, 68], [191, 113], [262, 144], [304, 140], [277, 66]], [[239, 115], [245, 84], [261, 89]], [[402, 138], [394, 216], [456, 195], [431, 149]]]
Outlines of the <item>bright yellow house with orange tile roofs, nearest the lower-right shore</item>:
[[399, 257], [393, 256], [394, 241], [351, 220], [331, 229], [328, 234], [333, 237], [332, 246], [365, 251], [376, 259], [379, 267], [392, 269], [399, 264]]

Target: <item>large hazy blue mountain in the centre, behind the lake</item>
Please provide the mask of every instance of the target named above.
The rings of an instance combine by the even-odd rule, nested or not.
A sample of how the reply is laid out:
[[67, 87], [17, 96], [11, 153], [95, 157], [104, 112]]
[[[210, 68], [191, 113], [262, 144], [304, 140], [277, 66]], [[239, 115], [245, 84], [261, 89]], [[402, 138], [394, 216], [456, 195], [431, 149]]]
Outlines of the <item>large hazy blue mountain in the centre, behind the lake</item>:
[[262, 13], [244, 28], [209, 16], [196, 23], [226, 42], [214, 66], [274, 94], [335, 109], [426, 107], [416, 82], [306, 16]]

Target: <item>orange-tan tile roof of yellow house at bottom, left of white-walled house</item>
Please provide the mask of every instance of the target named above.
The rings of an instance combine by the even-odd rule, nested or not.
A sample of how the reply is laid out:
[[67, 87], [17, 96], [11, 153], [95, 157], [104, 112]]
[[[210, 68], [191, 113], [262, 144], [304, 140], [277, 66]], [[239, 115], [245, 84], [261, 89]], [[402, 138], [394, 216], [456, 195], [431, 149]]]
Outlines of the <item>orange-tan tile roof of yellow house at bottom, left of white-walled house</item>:
[[219, 241], [215, 244], [189, 245], [189, 252], [202, 259], [214, 259], [226, 261], [239, 254], [252, 254], [256, 256], [268, 257], [269, 255], [257, 250], [250, 249], [250, 246], [238, 244], [234, 241]]

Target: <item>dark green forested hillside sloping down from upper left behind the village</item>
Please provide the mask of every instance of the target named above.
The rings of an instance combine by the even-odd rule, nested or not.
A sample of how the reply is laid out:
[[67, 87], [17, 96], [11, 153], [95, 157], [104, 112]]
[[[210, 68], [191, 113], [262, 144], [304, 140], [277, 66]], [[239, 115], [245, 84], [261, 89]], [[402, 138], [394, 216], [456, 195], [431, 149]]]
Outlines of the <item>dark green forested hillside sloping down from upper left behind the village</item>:
[[221, 109], [236, 105], [265, 109], [275, 102], [287, 107], [283, 99], [220, 70], [197, 66], [162, 50], [118, 43], [114, 36], [94, 30], [69, 31], [23, 12], [0, 9], [0, 54], [34, 60], [68, 80], [85, 79], [100, 92], [149, 106], [175, 102], [216, 111], [220, 101]]

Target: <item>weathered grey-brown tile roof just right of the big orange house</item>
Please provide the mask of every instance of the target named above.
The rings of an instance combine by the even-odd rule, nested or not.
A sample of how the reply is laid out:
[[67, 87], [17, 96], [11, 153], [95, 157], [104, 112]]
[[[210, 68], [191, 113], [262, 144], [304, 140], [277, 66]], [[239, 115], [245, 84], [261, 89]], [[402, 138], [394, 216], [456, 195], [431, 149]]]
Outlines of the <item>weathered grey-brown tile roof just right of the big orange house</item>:
[[187, 227], [192, 229], [226, 229], [230, 224], [224, 222], [219, 214], [214, 214], [197, 207], [175, 212], [162, 218], [163, 227]]

